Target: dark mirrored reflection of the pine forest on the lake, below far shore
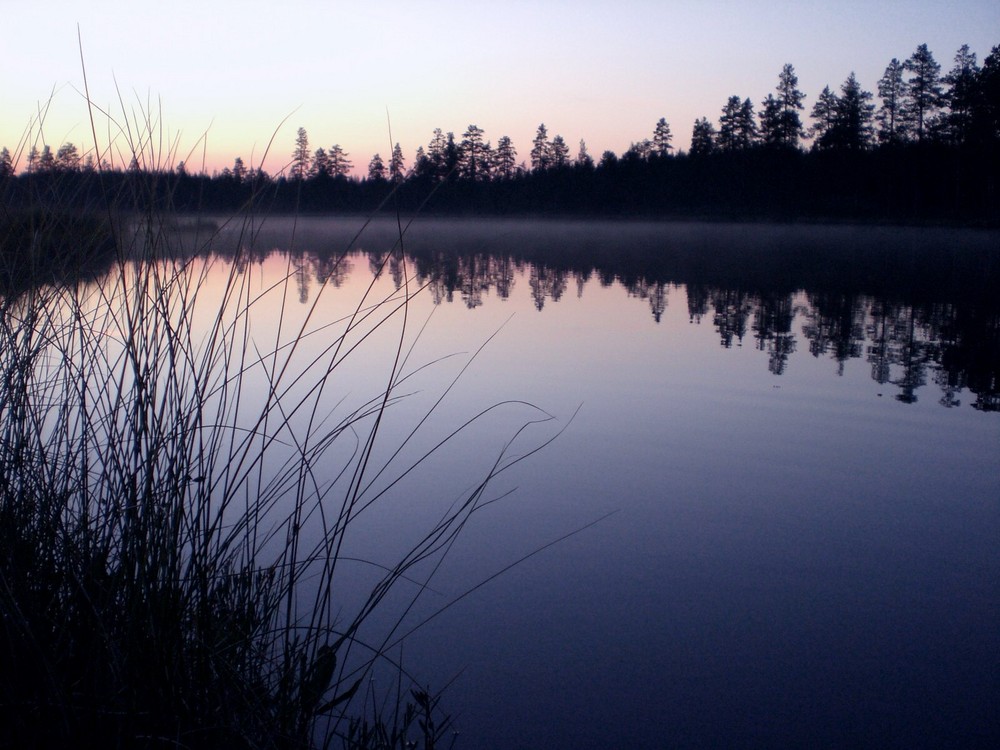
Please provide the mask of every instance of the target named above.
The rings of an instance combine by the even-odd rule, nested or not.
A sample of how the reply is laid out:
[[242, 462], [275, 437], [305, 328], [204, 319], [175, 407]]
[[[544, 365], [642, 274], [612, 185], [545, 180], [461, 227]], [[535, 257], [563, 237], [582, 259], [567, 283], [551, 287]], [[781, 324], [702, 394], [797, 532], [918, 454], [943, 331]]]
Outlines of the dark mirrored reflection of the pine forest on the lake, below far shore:
[[395, 222], [372, 222], [361, 235], [357, 221], [343, 219], [271, 219], [220, 233], [205, 226], [178, 231], [182, 252], [211, 247], [239, 270], [285, 253], [303, 304], [314, 286], [339, 287], [366, 266], [397, 288], [410, 278], [435, 304], [470, 310], [491, 295], [508, 300], [522, 284], [539, 312], [571, 283], [577, 297], [589, 285], [620, 285], [657, 324], [677, 289], [692, 325], [710, 320], [727, 349], [752, 341], [774, 375], [807, 354], [833, 360], [838, 375], [864, 359], [901, 403], [933, 386], [945, 407], [969, 391], [974, 408], [1000, 409], [996, 233], [435, 220], [408, 227], [400, 242]]

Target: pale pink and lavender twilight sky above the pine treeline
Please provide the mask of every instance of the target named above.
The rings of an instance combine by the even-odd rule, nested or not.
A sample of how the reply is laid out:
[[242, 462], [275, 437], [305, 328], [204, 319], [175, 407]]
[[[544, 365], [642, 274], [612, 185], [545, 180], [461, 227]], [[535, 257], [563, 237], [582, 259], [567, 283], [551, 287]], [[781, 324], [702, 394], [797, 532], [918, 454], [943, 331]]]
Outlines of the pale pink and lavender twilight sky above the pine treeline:
[[94, 130], [122, 153], [141, 132], [161, 164], [211, 172], [239, 156], [276, 174], [304, 127], [363, 172], [393, 143], [409, 166], [434, 128], [460, 139], [470, 124], [510, 136], [519, 160], [540, 123], [599, 158], [665, 117], [687, 148], [697, 118], [717, 123], [733, 94], [759, 105], [785, 63], [807, 119], [824, 86], [854, 71], [875, 92], [919, 44], [942, 73], [962, 44], [982, 62], [1000, 2], [0, 0], [0, 26], [0, 146], [15, 155], [92, 152]]

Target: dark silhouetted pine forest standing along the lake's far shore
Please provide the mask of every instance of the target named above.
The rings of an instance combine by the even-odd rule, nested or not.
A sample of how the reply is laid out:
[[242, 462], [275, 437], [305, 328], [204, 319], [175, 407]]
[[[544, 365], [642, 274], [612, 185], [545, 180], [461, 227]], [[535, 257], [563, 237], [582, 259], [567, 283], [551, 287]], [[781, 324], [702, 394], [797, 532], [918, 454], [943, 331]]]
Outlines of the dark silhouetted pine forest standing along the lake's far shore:
[[[407, 165], [399, 144], [353, 174], [339, 144], [310, 148], [299, 128], [291, 159], [271, 175], [237, 157], [219, 173], [164, 164], [153, 145], [53, 154], [0, 150], [0, 198], [10, 208], [118, 207], [177, 211], [562, 214], [737, 219], [945, 222], [1000, 225], [1000, 45], [983, 61], [963, 45], [946, 75], [927, 45], [893, 59], [878, 82], [880, 106], [851, 73], [825, 87], [803, 123], [805, 94], [785, 65], [755, 111], [731, 96], [717, 125], [695, 121], [691, 147], [675, 151], [666, 118], [652, 137], [596, 160], [580, 141], [538, 126], [528, 158], [511, 139], [496, 145], [470, 124], [457, 138], [434, 130]], [[154, 141], [150, 139], [150, 144]], [[807, 145], [808, 144], [808, 145]], [[26, 151], [26, 153], [25, 153]]]

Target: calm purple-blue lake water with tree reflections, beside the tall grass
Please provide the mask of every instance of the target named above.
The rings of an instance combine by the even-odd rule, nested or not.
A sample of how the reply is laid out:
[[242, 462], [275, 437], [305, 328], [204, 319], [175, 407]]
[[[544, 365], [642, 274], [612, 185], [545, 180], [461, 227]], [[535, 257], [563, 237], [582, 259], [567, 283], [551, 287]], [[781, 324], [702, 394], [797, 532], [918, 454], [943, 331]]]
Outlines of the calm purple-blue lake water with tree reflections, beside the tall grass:
[[204, 288], [249, 248], [254, 338], [305, 352], [408, 293], [329, 394], [405, 357], [376, 462], [488, 410], [358, 521], [365, 565], [523, 457], [366, 626], [456, 747], [1000, 743], [1000, 235], [362, 223], [223, 227]]

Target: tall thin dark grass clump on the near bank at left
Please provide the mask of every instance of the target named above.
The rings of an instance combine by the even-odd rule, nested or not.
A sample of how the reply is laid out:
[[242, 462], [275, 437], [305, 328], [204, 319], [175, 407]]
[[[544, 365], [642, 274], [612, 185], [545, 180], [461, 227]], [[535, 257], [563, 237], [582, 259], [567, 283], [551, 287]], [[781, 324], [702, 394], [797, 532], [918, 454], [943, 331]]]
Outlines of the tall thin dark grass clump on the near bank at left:
[[[140, 165], [153, 140], [131, 144]], [[491, 480], [526, 453], [485, 465], [343, 611], [345, 550], [377, 488], [462, 435], [406, 465], [375, 450], [402, 397], [420, 290], [376, 298], [373, 284], [333, 325], [314, 319], [320, 289], [306, 323], [279, 313], [264, 338], [255, 311], [292, 273], [255, 290], [240, 250], [209, 290], [204, 257], [219, 235], [182, 243], [153, 208], [105, 220], [104, 198], [90, 216], [109, 228], [109, 270], [36, 274], [0, 299], [0, 744], [433, 747], [447, 721], [426, 692], [397, 690], [389, 718], [365, 712], [360, 688], [394, 636], [367, 642], [361, 628], [417, 577], [402, 619]], [[8, 221], [9, 266], [23, 252], [15, 234], [32, 257], [86, 265], [83, 236], [50, 231], [58, 209], [40, 203], [26, 235]], [[250, 252], [257, 220], [231, 221]], [[387, 331], [396, 348], [373, 376], [381, 385], [339, 403], [340, 368]]]

